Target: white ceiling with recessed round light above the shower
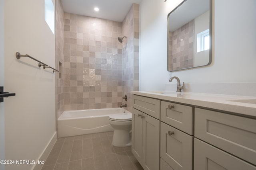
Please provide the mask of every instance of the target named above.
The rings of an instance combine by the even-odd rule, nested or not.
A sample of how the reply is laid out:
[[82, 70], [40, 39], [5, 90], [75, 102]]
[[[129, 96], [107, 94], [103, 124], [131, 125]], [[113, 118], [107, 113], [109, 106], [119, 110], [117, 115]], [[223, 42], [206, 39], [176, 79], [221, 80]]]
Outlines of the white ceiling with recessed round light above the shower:
[[[142, 0], [61, 0], [64, 12], [122, 22], [132, 3]], [[98, 7], [98, 12], [94, 8]]]

